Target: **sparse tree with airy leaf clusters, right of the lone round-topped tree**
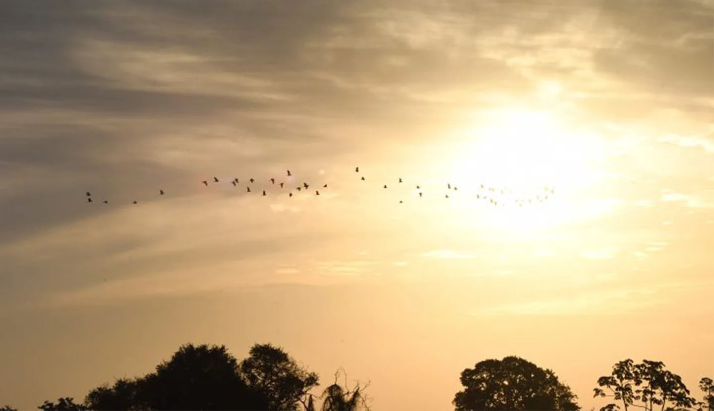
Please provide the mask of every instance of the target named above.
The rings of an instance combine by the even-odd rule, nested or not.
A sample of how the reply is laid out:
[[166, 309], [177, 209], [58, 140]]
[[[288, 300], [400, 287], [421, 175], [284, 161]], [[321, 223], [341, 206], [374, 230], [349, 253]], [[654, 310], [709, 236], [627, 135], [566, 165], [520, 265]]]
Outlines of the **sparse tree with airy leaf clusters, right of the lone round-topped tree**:
[[[665, 370], [661, 361], [643, 360], [635, 364], [633, 360], [627, 359], [616, 362], [611, 375], [598, 378], [598, 385], [607, 388], [610, 393], [596, 387], [593, 389], [594, 397], [612, 397], [615, 401], [621, 401], [625, 411], [629, 407], [653, 411], [655, 405], [665, 411], [691, 408], [696, 404], [682, 378]], [[610, 403], [601, 407], [600, 411], [619, 409], [619, 405]]]

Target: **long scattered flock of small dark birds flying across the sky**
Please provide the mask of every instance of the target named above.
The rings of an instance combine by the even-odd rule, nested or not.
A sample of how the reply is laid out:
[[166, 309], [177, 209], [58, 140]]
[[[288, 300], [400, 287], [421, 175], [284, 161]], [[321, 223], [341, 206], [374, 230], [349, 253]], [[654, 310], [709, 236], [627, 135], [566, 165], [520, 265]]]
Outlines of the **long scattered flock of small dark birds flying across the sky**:
[[[356, 167], [354, 169], [354, 172], [358, 175], [359, 181], [366, 182], [367, 179], [366, 177], [360, 173], [360, 168]], [[285, 173], [285, 177], [292, 177], [293, 173], [291, 173], [290, 170], [287, 170]], [[310, 188], [313, 187], [313, 195], [314, 196], [320, 196], [320, 189], [326, 189], [328, 188], [328, 185], [326, 183], [321, 183], [316, 186], [313, 186], [310, 183], [303, 182], [302, 184], [298, 184], [298, 186], [295, 187], [288, 187], [288, 183], [286, 181], [277, 181], [275, 177], [268, 178], [267, 181], [270, 181], [271, 187], [274, 187], [274, 191], [271, 189], [271, 195], [273, 193], [277, 193], [278, 195], [281, 196], [287, 196], [288, 198], [292, 198], [294, 196], [293, 191], [297, 191], [298, 193], [301, 191], [304, 191], [305, 193], [310, 192]], [[209, 186], [213, 184], [218, 184], [221, 183], [221, 180], [218, 177], [213, 177], [211, 180], [203, 180], [201, 181], [203, 186], [208, 188]], [[256, 179], [255, 178], [248, 178], [247, 181], [243, 181], [241, 183], [241, 179], [239, 178], [233, 178], [231, 181], [229, 181], [235, 188], [245, 188], [246, 193], [260, 193], [261, 196], [268, 196], [268, 190], [262, 189], [262, 188], [256, 188]], [[401, 186], [405, 183], [403, 178], [398, 178], [394, 183], [398, 186]], [[388, 190], [391, 186], [390, 183], [383, 183], [381, 184], [383, 190]], [[253, 189], [251, 189], [253, 188]], [[453, 185], [452, 183], [444, 183], [444, 188], [446, 191], [443, 191], [441, 195], [443, 198], [448, 199], [451, 198], [451, 196], [456, 196], [456, 193], [459, 193], [459, 189], [457, 186]], [[416, 190], [416, 193], [418, 194], [418, 198], [423, 198], [424, 197], [424, 190], [421, 188], [420, 184], [414, 184], [414, 190]], [[462, 191], [463, 192], [463, 191]], [[166, 192], [162, 188], [158, 189], [159, 196], [165, 196]], [[467, 193], [468, 194], [468, 193]], [[498, 188], [498, 187], [493, 187], [493, 186], [486, 186], [483, 183], [476, 188], [476, 193], [471, 193], [473, 196], [472, 198], [475, 199], [476, 201], [483, 201], [485, 203], [488, 203], [490, 205], [495, 205], [495, 206], [505, 206], [505, 205], [517, 205], [518, 207], [523, 207], [526, 205], [532, 205], [532, 204], [537, 204], [537, 203], [543, 203], [545, 201], [548, 201], [549, 198], [551, 198], [555, 194], [555, 188], [552, 186], [544, 185], [543, 188], [538, 192], [535, 193], [535, 195], [525, 195], [524, 193], [516, 193], [510, 188]], [[86, 202], [87, 203], [94, 203], [94, 196], [90, 191], [86, 192]], [[109, 200], [103, 199], [101, 201], [103, 204], [109, 204]], [[132, 204], [139, 204], [139, 201], [133, 200], [131, 201]], [[404, 203], [404, 200], [401, 199], [399, 200], [399, 203]]]

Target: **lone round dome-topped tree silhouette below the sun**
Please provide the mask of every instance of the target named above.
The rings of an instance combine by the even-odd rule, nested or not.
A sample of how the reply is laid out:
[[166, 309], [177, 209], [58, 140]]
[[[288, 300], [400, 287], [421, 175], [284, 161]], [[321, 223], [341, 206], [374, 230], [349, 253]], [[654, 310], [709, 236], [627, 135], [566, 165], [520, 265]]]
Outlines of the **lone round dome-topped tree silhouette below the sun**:
[[520, 357], [478, 362], [461, 372], [461, 385], [465, 390], [453, 400], [456, 411], [580, 410], [577, 397], [552, 370]]

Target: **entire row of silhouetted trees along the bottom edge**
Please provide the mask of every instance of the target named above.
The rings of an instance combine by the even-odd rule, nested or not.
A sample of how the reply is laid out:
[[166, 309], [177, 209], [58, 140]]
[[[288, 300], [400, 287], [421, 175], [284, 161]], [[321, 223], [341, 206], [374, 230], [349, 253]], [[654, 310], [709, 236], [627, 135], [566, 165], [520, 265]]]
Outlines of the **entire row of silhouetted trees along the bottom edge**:
[[[298, 365], [283, 348], [256, 344], [238, 361], [224, 345], [179, 347], [170, 360], [143, 377], [116, 380], [90, 390], [84, 402], [61, 397], [37, 408], [45, 411], [114, 410], [276, 410], [368, 411], [366, 386], [349, 388], [334, 382], [321, 395], [311, 393], [319, 377]], [[521, 357], [483, 360], [461, 372], [464, 389], [457, 392], [456, 411], [576, 411], [580, 406], [570, 387], [555, 372]], [[612, 399], [600, 411], [633, 407], [645, 411], [714, 411], [714, 382], [699, 381], [695, 397], [679, 375], [663, 362], [623, 360], [610, 375], [598, 378], [595, 397]], [[319, 406], [318, 406], [319, 403]], [[6, 405], [0, 411], [16, 411]]]

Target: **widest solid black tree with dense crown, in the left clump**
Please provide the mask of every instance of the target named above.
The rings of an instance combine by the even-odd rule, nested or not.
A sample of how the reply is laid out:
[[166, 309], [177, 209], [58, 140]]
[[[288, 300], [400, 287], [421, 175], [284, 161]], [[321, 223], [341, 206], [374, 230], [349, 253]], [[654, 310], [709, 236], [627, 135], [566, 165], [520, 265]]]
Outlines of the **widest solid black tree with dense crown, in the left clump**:
[[[266, 410], [263, 393], [241, 377], [225, 345], [182, 345], [171, 360], [142, 378], [135, 405], [151, 410]], [[116, 388], [116, 385], [115, 385]], [[127, 390], [131, 392], [131, 390]]]

